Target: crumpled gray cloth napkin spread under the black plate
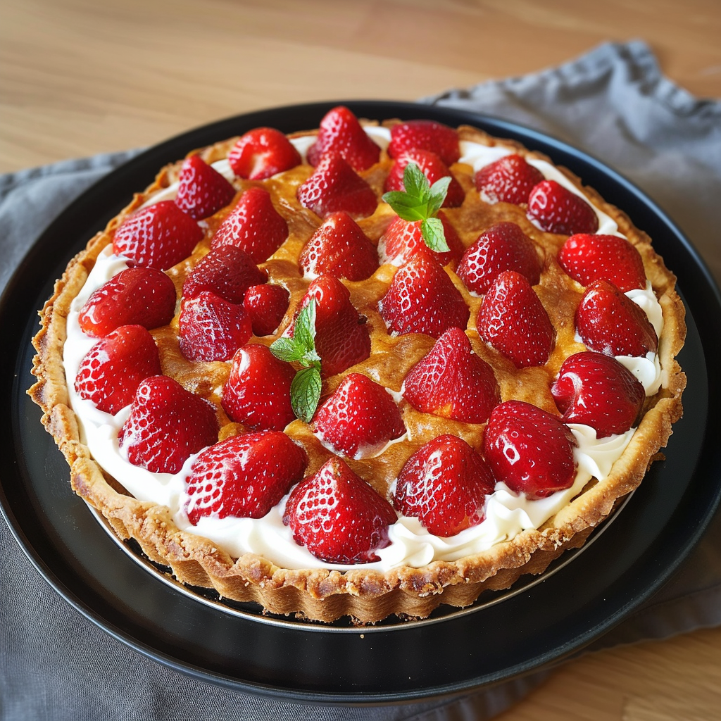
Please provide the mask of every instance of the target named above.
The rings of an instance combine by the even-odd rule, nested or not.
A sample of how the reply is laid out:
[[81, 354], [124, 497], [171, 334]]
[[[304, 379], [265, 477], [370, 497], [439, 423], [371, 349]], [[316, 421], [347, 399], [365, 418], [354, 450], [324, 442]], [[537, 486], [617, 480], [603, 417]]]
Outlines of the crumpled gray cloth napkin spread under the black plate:
[[[660, 73], [641, 42], [601, 45], [541, 73], [422, 102], [545, 131], [636, 182], [693, 239], [716, 277], [721, 252], [721, 102]], [[137, 151], [0, 177], [0, 289], [67, 203]], [[592, 648], [721, 624], [721, 514], [676, 577]], [[109, 673], [109, 670], [112, 672]], [[149, 660], [68, 606], [0, 523], [0, 720], [485, 721], [552, 670], [458, 699], [384, 707], [307, 707], [205, 684]]]

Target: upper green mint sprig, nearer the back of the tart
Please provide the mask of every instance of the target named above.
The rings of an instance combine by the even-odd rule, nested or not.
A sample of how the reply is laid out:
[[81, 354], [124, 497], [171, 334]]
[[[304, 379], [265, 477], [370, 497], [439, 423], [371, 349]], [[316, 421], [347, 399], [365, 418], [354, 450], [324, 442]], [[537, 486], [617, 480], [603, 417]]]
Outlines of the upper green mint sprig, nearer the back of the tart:
[[404, 221], [420, 221], [423, 242], [439, 253], [450, 250], [443, 234], [441, 218], [438, 218], [438, 211], [446, 200], [448, 185], [451, 185], [450, 175], [430, 185], [420, 167], [416, 163], [409, 163], [403, 171], [405, 190], [390, 190], [383, 196], [383, 200]]

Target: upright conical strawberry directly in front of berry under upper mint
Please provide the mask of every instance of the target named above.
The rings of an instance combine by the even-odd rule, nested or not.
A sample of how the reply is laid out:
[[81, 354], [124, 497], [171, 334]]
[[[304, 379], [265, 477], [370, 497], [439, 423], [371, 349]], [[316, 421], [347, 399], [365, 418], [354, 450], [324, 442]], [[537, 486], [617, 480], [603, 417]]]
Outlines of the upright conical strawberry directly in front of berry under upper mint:
[[470, 311], [448, 273], [425, 254], [399, 267], [379, 302], [389, 330], [439, 338], [448, 328], [465, 328]]

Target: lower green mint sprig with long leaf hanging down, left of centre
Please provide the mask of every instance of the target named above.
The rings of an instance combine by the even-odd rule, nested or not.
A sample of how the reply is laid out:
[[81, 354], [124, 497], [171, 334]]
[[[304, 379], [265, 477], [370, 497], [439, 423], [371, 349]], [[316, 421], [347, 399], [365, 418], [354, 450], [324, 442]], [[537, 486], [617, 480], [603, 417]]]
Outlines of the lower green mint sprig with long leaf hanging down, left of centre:
[[310, 423], [318, 403], [322, 381], [320, 356], [315, 349], [315, 298], [298, 313], [292, 338], [278, 338], [270, 345], [275, 358], [288, 363], [300, 363], [302, 368], [291, 383], [291, 407], [296, 418]]

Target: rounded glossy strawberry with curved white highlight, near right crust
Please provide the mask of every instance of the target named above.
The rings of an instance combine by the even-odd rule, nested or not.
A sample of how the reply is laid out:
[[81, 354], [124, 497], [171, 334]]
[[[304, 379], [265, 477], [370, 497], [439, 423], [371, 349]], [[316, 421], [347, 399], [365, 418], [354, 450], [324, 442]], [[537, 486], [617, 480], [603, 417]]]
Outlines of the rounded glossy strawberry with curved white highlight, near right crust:
[[610, 355], [584, 351], [563, 361], [551, 392], [564, 423], [596, 428], [596, 438], [625, 433], [641, 412], [646, 392]]

